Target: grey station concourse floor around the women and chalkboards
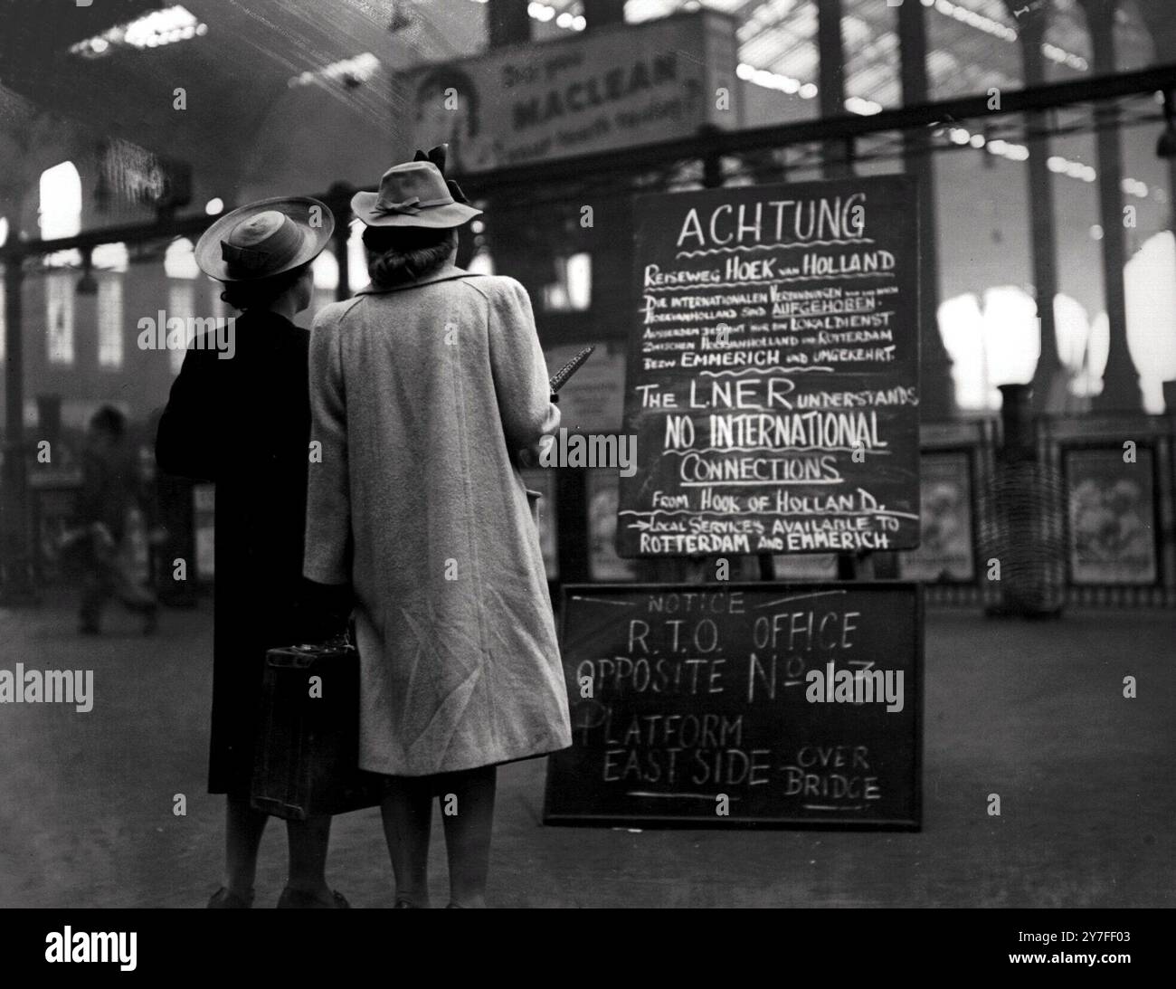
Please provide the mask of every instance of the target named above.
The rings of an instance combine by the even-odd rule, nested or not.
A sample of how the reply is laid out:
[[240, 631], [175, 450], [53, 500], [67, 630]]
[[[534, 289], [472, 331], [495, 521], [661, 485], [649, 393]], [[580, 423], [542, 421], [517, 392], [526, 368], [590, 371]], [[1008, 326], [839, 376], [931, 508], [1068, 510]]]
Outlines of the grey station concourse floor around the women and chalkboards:
[[[0, 706], [0, 907], [200, 907], [219, 884], [211, 607], [165, 613], [152, 640], [115, 612], [108, 626], [79, 639], [65, 600], [0, 610], [0, 668], [92, 668], [96, 694], [89, 714]], [[507, 767], [492, 904], [1176, 906], [1174, 633], [1160, 612], [1045, 623], [933, 612], [922, 834], [544, 828], [542, 761]], [[1136, 700], [1122, 696], [1127, 674]], [[180, 793], [185, 817], [172, 813]], [[259, 907], [276, 901], [285, 854], [278, 822]], [[377, 810], [336, 820], [330, 882], [355, 907], [392, 906]]]

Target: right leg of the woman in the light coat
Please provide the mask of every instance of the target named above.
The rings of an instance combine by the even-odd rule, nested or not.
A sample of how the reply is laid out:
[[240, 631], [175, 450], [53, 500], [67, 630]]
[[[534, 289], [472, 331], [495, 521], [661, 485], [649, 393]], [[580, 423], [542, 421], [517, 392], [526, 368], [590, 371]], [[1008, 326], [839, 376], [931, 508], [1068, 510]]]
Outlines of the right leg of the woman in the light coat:
[[456, 907], [486, 907], [490, 870], [490, 830], [497, 769], [486, 766], [445, 777], [441, 806], [456, 797], [456, 814], [446, 814], [445, 847], [449, 857], [449, 902]]

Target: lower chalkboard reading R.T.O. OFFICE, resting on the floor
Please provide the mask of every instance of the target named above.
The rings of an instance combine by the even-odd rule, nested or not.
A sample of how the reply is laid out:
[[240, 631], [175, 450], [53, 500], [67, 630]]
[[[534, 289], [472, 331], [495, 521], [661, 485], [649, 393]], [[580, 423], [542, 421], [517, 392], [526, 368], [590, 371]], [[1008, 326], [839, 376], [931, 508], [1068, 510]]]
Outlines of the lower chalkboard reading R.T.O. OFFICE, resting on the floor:
[[921, 823], [917, 583], [563, 588], [550, 824]]

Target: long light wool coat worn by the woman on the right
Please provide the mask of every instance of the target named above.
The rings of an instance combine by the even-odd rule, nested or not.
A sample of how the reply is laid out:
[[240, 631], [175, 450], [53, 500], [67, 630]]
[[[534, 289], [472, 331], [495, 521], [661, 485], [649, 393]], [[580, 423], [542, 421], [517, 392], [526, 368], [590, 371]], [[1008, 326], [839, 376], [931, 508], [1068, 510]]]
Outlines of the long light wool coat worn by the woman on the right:
[[515, 454], [559, 427], [526, 289], [447, 266], [323, 308], [303, 573], [358, 599], [360, 767], [421, 776], [572, 743]]

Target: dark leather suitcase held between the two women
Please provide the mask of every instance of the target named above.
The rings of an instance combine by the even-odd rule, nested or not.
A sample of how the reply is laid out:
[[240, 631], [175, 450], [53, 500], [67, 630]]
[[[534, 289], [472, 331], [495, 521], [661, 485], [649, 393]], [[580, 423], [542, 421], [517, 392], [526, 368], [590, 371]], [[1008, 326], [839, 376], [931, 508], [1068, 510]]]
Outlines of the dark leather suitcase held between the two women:
[[258, 810], [305, 821], [380, 803], [386, 777], [359, 768], [359, 653], [347, 642], [266, 653], [252, 794]]

